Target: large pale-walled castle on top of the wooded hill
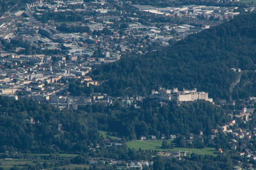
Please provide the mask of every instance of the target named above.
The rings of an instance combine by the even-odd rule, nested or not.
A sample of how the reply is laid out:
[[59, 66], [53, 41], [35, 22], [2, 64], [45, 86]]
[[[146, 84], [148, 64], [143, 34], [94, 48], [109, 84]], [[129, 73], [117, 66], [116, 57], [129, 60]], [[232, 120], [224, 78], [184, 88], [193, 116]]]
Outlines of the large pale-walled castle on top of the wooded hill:
[[151, 97], [154, 99], [160, 99], [165, 101], [173, 102], [188, 102], [196, 100], [205, 100], [212, 103], [212, 98], [208, 97], [207, 92], [196, 92], [196, 89], [179, 91], [178, 88], [173, 87], [172, 89], [159, 88], [158, 91], [152, 90]]

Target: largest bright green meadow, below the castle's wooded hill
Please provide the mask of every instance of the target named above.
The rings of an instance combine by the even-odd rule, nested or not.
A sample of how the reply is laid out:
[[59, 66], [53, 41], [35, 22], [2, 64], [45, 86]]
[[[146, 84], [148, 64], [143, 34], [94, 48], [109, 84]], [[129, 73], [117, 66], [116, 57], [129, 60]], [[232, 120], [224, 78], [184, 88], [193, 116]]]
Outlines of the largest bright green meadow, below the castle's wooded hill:
[[[171, 140], [168, 140], [170, 143], [172, 143]], [[159, 152], [166, 152], [166, 151], [184, 151], [184, 152], [191, 152], [196, 153], [200, 155], [216, 155], [214, 152], [215, 148], [203, 148], [203, 149], [197, 149], [197, 148], [173, 148], [173, 149], [162, 149], [163, 140], [145, 140], [145, 141], [129, 141], [127, 142], [127, 146], [129, 148], [134, 148], [136, 150], [143, 149], [143, 150], [157, 150]]]

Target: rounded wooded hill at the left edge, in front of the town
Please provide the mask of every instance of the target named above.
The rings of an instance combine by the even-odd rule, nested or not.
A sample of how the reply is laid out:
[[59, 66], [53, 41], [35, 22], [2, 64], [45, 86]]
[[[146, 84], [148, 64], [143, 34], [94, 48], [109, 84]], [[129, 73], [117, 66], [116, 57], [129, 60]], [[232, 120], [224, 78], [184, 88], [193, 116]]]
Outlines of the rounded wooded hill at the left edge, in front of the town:
[[99, 142], [95, 121], [84, 113], [7, 97], [0, 104], [0, 153], [86, 152]]

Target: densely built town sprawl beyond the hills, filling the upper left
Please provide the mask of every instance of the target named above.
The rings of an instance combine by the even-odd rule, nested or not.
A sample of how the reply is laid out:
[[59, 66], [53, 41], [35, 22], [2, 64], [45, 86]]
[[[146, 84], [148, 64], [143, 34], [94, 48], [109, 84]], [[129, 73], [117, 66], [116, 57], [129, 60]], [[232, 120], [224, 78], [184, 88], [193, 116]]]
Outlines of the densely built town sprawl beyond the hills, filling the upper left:
[[[153, 46], [169, 45], [168, 41], [179, 41], [240, 13], [238, 7], [127, 4], [125, 8], [123, 3], [38, 1], [5, 13], [0, 20], [1, 94], [16, 99], [22, 94], [60, 108], [77, 108], [98, 99], [111, 102], [107, 94], [70, 96], [66, 81], [99, 85], [86, 76], [96, 66], [120, 60], [127, 53], [147, 53]], [[59, 15], [65, 18], [56, 18]], [[159, 19], [163, 22], [156, 22]]]

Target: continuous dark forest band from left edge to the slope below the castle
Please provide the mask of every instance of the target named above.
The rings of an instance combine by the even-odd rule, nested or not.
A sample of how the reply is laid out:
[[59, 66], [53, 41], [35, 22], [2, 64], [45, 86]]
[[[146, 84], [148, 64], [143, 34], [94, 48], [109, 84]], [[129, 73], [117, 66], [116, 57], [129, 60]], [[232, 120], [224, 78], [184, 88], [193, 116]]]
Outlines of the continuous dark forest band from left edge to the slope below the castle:
[[199, 131], [207, 135], [229, 120], [223, 108], [205, 101], [160, 107], [157, 101], [146, 100], [140, 109], [122, 103], [92, 104], [79, 111], [8, 97], [0, 97], [0, 104], [0, 153], [86, 153], [89, 146], [103, 145], [98, 130], [125, 140]]

